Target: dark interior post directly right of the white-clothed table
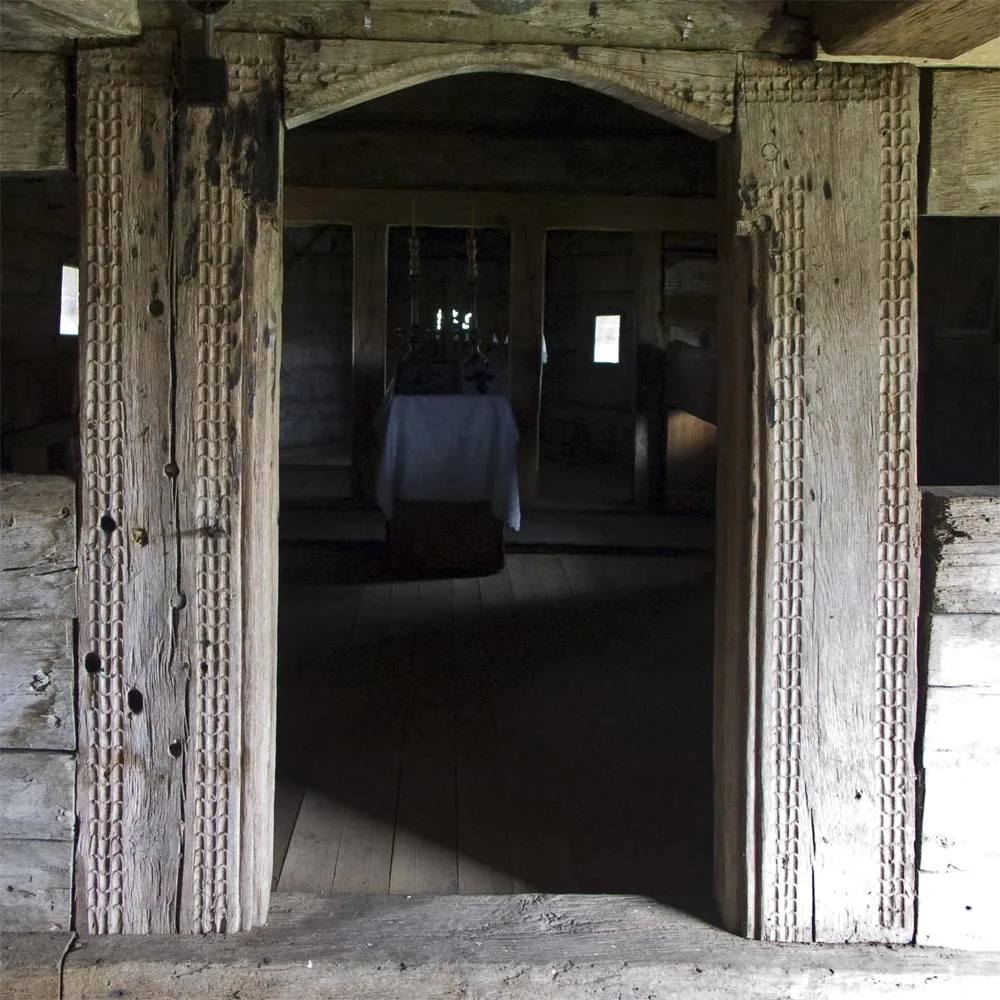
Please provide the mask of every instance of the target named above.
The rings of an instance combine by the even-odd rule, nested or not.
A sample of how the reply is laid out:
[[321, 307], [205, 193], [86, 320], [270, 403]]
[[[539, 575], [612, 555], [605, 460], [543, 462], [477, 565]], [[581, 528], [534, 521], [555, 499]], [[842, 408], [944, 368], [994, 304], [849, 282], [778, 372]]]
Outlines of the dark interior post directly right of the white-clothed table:
[[538, 496], [538, 422], [545, 325], [545, 230], [510, 235], [510, 400], [521, 438], [517, 474], [522, 500]]

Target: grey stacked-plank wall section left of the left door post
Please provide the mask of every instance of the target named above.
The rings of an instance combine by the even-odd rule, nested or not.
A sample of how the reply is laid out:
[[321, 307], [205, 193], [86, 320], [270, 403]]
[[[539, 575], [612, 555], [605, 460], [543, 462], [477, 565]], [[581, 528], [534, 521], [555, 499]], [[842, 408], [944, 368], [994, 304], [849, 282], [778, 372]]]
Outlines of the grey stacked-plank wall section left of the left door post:
[[69, 930], [76, 488], [0, 479], [0, 931]]

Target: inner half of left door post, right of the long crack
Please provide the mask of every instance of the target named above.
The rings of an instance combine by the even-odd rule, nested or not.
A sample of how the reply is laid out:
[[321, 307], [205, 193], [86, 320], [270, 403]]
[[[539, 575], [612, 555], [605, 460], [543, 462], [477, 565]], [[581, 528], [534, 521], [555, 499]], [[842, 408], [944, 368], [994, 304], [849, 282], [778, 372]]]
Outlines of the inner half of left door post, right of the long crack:
[[222, 51], [229, 103], [184, 111], [175, 214], [181, 647], [191, 665], [182, 929], [200, 932], [266, 915], [258, 886], [269, 885], [273, 809], [278, 60], [255, 36], [227, 38]]

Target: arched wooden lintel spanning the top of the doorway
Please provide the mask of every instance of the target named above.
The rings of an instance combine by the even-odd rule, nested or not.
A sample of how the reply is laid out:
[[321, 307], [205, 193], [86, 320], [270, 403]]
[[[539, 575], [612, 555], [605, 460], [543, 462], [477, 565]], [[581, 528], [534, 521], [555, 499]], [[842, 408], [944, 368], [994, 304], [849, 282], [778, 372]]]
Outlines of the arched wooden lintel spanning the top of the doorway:
[[530, 73], [576, 83], [709, 139], [728, 133], [733, 121], [736, 63], [720, 52], [289, 40], [285, 67], [290, 128], [404, 87], [475, 72]]

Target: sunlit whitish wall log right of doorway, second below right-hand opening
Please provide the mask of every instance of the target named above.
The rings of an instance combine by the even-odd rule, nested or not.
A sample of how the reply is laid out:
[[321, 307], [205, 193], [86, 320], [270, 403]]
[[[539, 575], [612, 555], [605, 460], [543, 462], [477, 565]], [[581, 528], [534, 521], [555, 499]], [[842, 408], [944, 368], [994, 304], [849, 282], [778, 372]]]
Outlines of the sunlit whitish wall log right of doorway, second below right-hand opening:
[[1000, 613], [929, 619], [927, 683], [1000, 694]]

